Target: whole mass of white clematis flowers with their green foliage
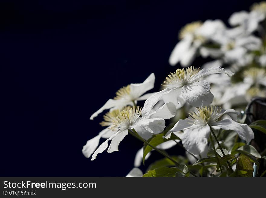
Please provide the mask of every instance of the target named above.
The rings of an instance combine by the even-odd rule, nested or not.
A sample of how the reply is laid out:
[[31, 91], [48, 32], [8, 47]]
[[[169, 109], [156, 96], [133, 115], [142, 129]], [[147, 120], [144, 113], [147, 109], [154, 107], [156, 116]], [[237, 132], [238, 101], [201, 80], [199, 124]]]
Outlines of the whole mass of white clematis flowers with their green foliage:
[[[120, 88], [90, 117], [93, 120], [109, 110], [100, 123], [106, 128], [83, 146], [84, 156], [94, 160], [107, 148], [108, 153], [118, 151], [119, 143], [131, 134], [144, 146], [128, 177], [156, 176], [158, 172], [169, 176], [173, 170], [172, 176], [254, 175], [252, 166], [242, 167], [241, 160], [258, 165], [262, 156], [249, 145], [254, 132], [239, 112], [243, 114], [255, 96], [266, 97], [265, 23], [266, 2], [261, 2], [250, 12], [233, 13], [231, 27], [222, 20], [185, 25], [169, 58], [170, 65], [183, 68], [166, 75], [161, 91], [155, 93], [146, 93], [154, 88], [153, 73], [143, 83]], [[190, 66], [197, 58], [206, 57], [213, 60], [201, 68]], [[142, 108], [137, 106], [140, 100], [145, 101]], [[99, 146], [101, 138], [106, 140]], [[185, 150], [187, 159], [164, 151], [176, 145]], [[150, 165], [143, 175], [137, 167], [153, 150], [165, 159]], [[172, 166], [176, 168], [167, 172]]]

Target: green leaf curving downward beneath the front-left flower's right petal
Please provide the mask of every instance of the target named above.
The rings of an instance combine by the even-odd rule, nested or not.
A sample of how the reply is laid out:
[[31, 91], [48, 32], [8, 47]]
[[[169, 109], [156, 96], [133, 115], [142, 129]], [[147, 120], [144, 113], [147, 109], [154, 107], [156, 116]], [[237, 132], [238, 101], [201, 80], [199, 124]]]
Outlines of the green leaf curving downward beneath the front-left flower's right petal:
[[[172, 126], [168, 126], [166, 130], [164, 130], [163, 133], [161, 134], [156, 134], [154, 136], [152, 136], [150, 139], [147, 140], [147, 142], [149, 144], [151, 144], [152, 146], [158, 146], [159, 144], [161, 143], [164, 143], [164, 142], [167, 142], [167, 141], [170, 141], [170, 140], [180, 140], [179, 137], [177, 137], [175, 134], [171, 134], [171, 137], [167, 140], [167, 139], [164, 139], [163, 136], [172, 128]], [[144, 144], [144, 147], [143, 147], [143, 158], [142, 158], [142, 162], [144, 164], [145, 162], [145, 157], [146, 155], [152, 151], [153, 148], [151, 148], [151, 146], [148, 146], [147, 144]]]

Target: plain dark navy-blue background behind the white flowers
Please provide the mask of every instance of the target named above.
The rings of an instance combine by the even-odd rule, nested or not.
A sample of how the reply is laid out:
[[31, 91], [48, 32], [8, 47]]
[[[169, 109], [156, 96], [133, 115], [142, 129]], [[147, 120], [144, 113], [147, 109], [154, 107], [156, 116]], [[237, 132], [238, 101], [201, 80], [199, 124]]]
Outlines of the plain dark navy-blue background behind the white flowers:
[[226, 22], [252, 2], [1, 1], [1, 176], [125, 176], [142, 144], [127, 136], [119, 152], [85, 158], [102, 130], [90, 115], [152, 72], [158, 90], [183, 25]]

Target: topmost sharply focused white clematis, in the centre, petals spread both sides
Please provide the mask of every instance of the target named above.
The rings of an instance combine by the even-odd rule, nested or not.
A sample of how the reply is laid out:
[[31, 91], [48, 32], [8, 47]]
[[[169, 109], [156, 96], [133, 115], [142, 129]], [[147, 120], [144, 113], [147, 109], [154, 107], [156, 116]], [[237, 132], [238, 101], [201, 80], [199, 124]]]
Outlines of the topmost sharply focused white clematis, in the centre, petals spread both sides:
[[[176, 72], [166, 77], [164, 81], [166, 88], [150, 96], [145, 101], [142, 115], [147, 116], [150, 114], [154, 105], [160, 100], [163, 100], [165, 104], [174, 104], [176, 108], [180, 108], [185, 102], [195, 107], [211, 104], [213, 95], [210, 92], [210, 85], [206, 80], [202, 80], [201, 78], [215, 73], [225, 73], [228, 76], [233, 75], [232, 72], [225, 71], [221, 67], [202, 70], [199, 68], [195, 69], [194, 67], [177, 69]], [[165, 115], [161, 118], [168, 119], [171, 117]]]

